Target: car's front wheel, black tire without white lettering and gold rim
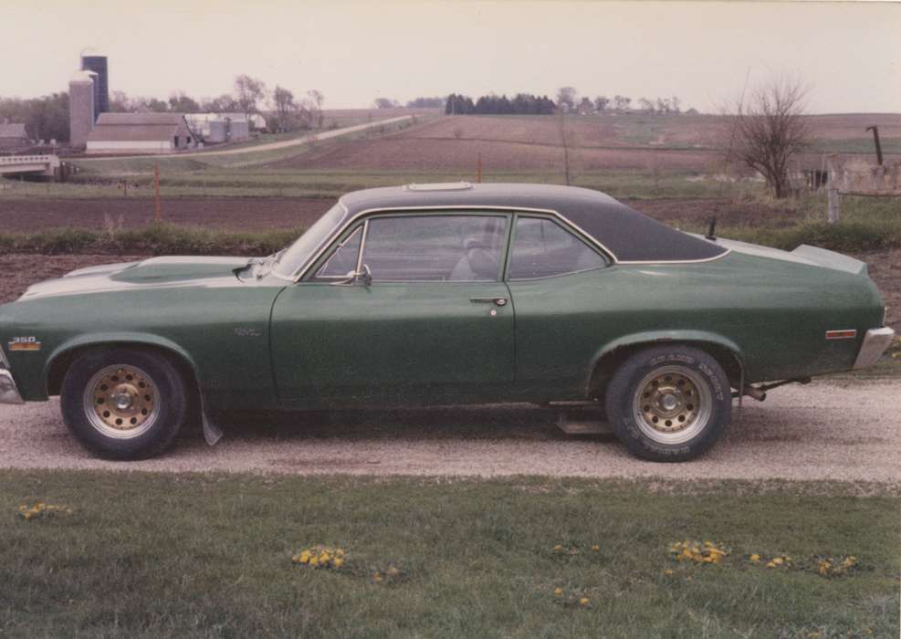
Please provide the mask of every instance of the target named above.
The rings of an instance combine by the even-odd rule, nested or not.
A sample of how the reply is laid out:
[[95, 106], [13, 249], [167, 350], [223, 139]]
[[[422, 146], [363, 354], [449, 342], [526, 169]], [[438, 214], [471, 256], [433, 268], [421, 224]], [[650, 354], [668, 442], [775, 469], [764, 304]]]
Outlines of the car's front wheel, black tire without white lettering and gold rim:
[[155, 351], [89, 351], [60, 388], [63, 419], [79, 442], [108, 459], [142, 459], [172, 445], [185, 420], [182, 374]]

